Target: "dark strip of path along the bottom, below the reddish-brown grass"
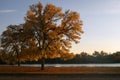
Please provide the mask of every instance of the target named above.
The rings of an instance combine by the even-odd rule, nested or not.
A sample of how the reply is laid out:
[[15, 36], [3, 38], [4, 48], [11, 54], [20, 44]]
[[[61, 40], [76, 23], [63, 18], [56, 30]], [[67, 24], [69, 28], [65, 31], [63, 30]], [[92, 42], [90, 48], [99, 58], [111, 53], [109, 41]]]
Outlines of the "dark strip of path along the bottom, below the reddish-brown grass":
[[0, 80], [120, 80], [120, 74], [1, 74]]

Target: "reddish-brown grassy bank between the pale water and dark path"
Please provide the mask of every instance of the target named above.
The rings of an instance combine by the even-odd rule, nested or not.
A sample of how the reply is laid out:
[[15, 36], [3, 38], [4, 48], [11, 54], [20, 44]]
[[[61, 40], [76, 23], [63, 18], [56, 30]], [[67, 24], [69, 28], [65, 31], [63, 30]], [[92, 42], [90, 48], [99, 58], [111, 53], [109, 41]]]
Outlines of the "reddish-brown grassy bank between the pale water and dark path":
[[120, 74], [120, 67], [40, 67], [0, 66], [0, 74]]

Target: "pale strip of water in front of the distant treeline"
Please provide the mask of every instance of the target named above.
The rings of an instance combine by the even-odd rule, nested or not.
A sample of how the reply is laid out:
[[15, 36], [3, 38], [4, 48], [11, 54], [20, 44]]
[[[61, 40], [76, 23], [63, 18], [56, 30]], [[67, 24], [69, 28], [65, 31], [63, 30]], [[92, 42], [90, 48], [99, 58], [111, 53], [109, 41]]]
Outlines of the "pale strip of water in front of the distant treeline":
[[[21, 66], [38, 67], [40, 64], [22, 64]], [[112, 64], [45, 64], [46, 67], [120, 67], [120, 63]]]

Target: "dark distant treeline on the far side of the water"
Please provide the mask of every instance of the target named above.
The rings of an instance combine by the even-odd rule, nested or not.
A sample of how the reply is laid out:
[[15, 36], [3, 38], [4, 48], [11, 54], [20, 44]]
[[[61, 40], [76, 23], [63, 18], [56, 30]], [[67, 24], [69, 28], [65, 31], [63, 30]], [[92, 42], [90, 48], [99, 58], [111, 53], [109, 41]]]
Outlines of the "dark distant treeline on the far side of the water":
[[[95, 51], [92, 55], [82, 52], [80, 54], [75, 54], [74, 58], [69, 60], [62, 60], [61, 58], [46, 59], [46, 64], [82, 64], [82, 63], [120, 63], [120, 52], [108, 54], [104, 51]], [[38, 61], [26, 61], [22, 64], [39, 64], [41, 60]], [[0, 61], [0, 64], [3, 64]]]

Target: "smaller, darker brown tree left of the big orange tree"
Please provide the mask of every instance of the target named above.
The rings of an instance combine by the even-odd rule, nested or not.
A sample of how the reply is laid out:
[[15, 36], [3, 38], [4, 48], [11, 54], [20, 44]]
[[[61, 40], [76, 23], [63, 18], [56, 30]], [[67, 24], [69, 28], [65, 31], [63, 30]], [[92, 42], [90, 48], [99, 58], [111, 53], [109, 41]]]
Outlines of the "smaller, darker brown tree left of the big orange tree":
[[1, 46], [3, 48], [4, 61], [12, 64], [17, 57], [18, 66], [20, 66], [20, 48], [22, 39], [22, 25], [9, 25], [7, 30], [2, 33]]

